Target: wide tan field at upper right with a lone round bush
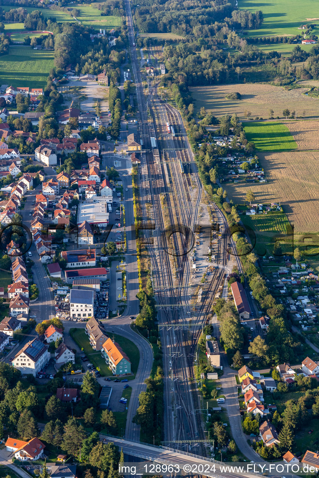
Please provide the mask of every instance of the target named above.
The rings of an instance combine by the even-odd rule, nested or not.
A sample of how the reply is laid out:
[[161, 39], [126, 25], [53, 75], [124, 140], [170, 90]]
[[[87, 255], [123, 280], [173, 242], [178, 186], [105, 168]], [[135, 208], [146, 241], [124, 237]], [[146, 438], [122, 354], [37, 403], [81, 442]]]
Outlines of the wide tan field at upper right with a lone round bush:
[[[194, 98], [195, 111], [202, 106], [215, 116], [236, 113], [241, 120], [246, 119], [245, 111], [253, 117], [269, 118], [269, 110], [274, 110], [275, 118], [283, 117], [283, 110], [297, 109], [304, 117], [319, 117], [319, 99], [304, 95], [307, 87], [286, 90], [282, 87], [261, 83], [235, 85], [216, 85], [189, 88]], [[226, 95], [238, 91], [241, 99], [226, 99]]]

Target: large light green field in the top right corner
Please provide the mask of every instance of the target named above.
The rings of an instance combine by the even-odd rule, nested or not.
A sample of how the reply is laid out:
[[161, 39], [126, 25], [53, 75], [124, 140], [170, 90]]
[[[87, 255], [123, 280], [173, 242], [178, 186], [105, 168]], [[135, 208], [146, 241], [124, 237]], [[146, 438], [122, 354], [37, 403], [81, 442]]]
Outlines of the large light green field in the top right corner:
[[[273, 0], [259, 2], [256, 0], [238, 0], [238, 7], [243, 10], [262, 10], [264, 22], [259, 30], [245, 30], [248, 36], [286, 36], [298, 35], [302, 24], [316, 23], [313, 33], [318, 35], [319, 22], [318, 2], [316, 0]], [[315, 20], [307, 20], [315, 19]]]

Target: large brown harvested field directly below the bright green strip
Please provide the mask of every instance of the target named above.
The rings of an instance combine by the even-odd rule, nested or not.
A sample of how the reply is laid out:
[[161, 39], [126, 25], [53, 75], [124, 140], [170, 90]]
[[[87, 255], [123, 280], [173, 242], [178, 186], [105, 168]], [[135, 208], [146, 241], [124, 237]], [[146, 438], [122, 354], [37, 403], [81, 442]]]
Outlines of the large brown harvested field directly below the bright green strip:
[[243, 204], [247, 191], [252, 190], [256, 202], [281, 201], [295, 232], [319, 230], [319, 153], [290, 151], [259, 153], [262, 167], [267, 173], [267, 183], [225, 185], [228, 197]]

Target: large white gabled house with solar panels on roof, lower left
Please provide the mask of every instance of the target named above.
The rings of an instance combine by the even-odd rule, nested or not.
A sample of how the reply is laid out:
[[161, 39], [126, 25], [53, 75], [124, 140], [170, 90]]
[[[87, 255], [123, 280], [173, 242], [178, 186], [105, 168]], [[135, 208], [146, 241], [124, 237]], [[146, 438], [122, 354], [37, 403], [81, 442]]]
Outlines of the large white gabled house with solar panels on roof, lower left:
[[35, 377], [49, 360], [48, 346], [36, 337], [19, 350], [11, 363], [22, 374], [31, 373]]

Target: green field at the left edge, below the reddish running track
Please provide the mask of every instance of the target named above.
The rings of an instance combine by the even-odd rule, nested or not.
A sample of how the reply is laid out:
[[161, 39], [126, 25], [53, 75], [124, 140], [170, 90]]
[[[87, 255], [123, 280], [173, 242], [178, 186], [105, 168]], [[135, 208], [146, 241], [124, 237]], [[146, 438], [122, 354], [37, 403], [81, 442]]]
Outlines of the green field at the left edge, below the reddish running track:
[[0, 57], [0, 84], [43, 88], [53, 68], [53, 51], [33, 50], [30, 46], [10, 46]]

